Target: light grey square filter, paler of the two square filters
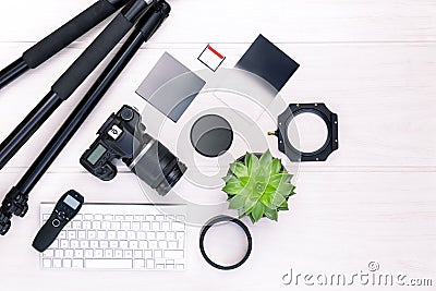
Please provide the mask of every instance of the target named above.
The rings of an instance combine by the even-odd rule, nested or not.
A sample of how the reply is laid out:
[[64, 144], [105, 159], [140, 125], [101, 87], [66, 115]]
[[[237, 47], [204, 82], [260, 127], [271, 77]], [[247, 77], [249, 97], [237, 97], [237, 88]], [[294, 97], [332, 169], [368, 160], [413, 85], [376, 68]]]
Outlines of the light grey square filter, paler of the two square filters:
[[136, 94], [178, 122], [205, 84], [203, 78], [165, 52]]

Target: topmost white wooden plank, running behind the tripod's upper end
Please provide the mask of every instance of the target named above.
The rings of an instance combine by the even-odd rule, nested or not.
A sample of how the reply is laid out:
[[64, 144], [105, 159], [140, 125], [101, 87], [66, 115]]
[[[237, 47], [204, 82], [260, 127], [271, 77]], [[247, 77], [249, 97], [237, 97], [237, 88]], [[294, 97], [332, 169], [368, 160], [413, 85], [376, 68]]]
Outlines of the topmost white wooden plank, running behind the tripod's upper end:
[[[0, 17], [0, 27], [3, 27], [0, 41], [32, 45], [93, 2], [5, 1]], [[253, 0], [249, 4], [232, 0], [207, 4], [202, 0], [184, 0], [170, 3], [171, 16], [153, 41], [250, 43], [259, 33], [279, 43], [436, 40], [436, 4], [427, 0]], [[88, 43], [95, 36], [93, 32], [82, 41]]]

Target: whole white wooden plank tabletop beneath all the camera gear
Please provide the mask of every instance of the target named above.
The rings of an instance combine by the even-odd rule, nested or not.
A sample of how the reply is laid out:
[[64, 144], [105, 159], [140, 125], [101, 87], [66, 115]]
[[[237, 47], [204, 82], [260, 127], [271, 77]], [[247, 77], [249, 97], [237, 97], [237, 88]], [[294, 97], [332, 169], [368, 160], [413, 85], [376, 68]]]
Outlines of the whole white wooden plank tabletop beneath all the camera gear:
[[[0, 68], [93, 1], [3, 1]], [[32, 192], [24, 219], [0, 238], [2, 290], [338, 290], [284, 286], [292, 268], [306, 274], [367, 271], [431, 278], [436, 284], [436, 2], [433, 0], [172, 0], [172, 13], [135, 57]], [[17, 16], [19, 15], [19, 16]], [[107, 22], [106, 22], [107, 23]], [[0, 92], [0, 140], [29, 112], [104, 25], [38, 70]], [[184, 272], [43, 271], [31, 243], [38, 205], [69, 189], [92, 202], [144, 202], [135, 178], [102, 184], [78, 157], [109, 113], [144, 107], [134, 94], [169, 51], [192, 70], [206, 44], [233, 66], [262, 33], [301, 63], [283, 88], [288, 102], [326, 102], [340, 119], [340, 149], [326, 162], [300, 169], [298, 195], [280, 222], [250, 226], [254, 248], [242, 268], [222, 272], [201, 257], [198, 229], [189, 230]], [[26, 171], [97, 74], [44, 124], [1, 172], [5, 194]], [[171, 136], [167, 143], [172, 143]], [[270, 140], [276, 148], [276, 141]], [[2, 194], [2, 195], [3, 195]], [[245, 220], [246, 221], [246, 220]], [[340, 287], [346, 290], [346, 287]], [[339, 288], [339, 289], [340, 289]], [[397, 290], [355, 284], [347, 290]]]

